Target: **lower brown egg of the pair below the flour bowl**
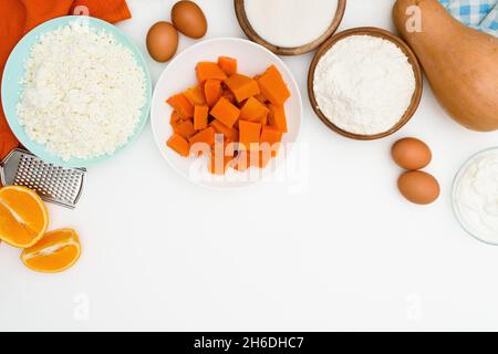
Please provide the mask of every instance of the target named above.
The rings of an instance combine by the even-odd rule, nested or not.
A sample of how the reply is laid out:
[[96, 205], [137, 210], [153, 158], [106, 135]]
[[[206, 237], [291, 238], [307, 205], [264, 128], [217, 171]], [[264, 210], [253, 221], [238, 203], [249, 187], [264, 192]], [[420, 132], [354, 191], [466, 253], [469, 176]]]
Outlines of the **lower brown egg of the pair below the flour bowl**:
[[440, 194], [437, 179], [421, 170], [412, 170], [401, 175], [397, 187], [406, 199], [419, 205], [435, 201]]

